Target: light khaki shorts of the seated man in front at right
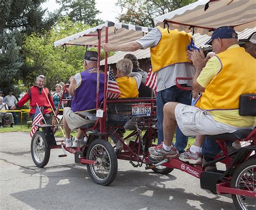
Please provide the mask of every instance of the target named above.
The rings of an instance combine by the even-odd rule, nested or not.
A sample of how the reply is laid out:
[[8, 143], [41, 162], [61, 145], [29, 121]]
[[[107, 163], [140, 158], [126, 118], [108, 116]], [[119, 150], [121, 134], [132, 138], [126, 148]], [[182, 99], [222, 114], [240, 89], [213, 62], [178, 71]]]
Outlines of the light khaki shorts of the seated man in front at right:
[[237, 130], [230, 125], [214, 121], [212, 114], [208, 111], [182, 103], [176, 106], [175, 117], [185, 136], [218, 135]]

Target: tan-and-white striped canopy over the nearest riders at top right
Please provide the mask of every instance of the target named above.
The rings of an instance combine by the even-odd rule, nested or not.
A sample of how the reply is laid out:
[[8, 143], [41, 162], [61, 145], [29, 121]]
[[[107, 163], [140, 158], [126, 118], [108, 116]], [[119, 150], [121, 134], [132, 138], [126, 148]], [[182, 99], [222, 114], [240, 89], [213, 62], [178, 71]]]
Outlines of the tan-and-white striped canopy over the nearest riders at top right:
[[235, 31], [252, 29], [256, 26], [256, 1], [199, 0], [154, 18], [154, 24], [161, 27], [168, 24], [171, 30], [186, 32], [194, 29], [194, 33], [208, 35], [220, 26], [232, 26]]

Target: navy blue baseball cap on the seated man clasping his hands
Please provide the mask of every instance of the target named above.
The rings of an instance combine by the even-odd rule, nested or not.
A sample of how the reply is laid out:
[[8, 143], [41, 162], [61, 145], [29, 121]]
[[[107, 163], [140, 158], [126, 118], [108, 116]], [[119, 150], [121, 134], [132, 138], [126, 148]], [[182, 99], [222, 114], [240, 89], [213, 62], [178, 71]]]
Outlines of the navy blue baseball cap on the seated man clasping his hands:
[[212, 40], [213, 39], [231, 39], [231, 38], [238, 38], [237, 36], [237, 32], [235, 32], [235, 30], [230, 27], [230, 26], [221, 26], [218, 27], [218, 29], [216, 29], [210, 40], [207, 41], [207, 43], [205, 43], [206, 45], [212, 45]]

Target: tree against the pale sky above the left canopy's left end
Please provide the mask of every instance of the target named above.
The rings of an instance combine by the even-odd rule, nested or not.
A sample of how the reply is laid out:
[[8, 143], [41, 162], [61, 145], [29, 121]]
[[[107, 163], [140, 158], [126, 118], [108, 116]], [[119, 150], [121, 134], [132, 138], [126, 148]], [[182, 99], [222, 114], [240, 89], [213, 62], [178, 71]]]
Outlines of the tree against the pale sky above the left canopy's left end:
[[96, 9], [95, 0], [56, 0], [61, 6], [60, 12], [68, 15], [73, 22], [82, 22], [89, 25], [99, 25], [102, 20], [96, 19], [100, 13]]

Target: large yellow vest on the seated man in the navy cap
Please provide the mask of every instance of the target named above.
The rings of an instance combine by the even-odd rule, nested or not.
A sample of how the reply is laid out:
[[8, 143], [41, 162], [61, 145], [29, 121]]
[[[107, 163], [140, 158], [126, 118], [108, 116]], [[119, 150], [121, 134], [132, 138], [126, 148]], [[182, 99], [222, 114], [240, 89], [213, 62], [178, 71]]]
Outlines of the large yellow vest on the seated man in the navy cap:
[[217, 57], [222, 68], [196, 106], [209, 111], [238, 109], [240, 95], [256, 93], [256, 61], [242, 47], [227, 49]]

